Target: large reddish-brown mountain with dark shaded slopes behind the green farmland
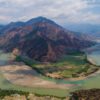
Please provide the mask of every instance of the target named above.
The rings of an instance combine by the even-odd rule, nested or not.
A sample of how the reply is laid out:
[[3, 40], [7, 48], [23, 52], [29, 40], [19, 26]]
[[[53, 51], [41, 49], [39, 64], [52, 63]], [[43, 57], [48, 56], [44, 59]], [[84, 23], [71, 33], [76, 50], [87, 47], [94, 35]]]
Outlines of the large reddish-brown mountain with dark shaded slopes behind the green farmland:
[[93, 45], [45, 17], [10, 23], [1, 33], [1, 49], [11, 52], [17, 48], [21, 54], [39, 61], [56, 61], [64, 54]]

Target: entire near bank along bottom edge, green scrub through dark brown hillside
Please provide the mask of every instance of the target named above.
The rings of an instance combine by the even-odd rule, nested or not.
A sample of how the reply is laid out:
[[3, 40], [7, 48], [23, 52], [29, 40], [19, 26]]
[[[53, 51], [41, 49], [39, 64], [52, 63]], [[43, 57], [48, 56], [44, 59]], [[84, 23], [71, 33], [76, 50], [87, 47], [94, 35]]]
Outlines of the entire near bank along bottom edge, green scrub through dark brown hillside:
[[[22, 97], [22, 98], [21, 98]], [[99, 100], [100, 89], [78, 90], [71, 93], [70, 97], [56, 97], [48, 95], [38, 95], [16, 90], [1, 90], [0, 100]]]

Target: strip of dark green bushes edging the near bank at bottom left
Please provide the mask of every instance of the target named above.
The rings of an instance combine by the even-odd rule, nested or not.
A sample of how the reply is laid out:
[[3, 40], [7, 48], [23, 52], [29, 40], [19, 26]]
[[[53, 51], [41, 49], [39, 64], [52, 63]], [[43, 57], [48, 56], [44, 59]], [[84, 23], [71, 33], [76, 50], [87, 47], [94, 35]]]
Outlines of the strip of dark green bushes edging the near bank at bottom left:
[[[0, 100], [3, 99], [6, 96], [10, 97], [10, 96], [16, 96], [16, 95], [19, 95], [19, 96], [23, 95], [23, 96], [25, 96], [26, 100], [33, 100], [36, 97], [42, 98], [41, 100], [46, 100], [45, 99], [46, 97], [51, 98], [51, 99], [54, 98], [53, 100], [65, 100], [65, 97], [56, 97], [56, 96], [39, 95], [39, 94], [32, 94], [32, 97], [31, 97], [32, 99], [28, 99], [29, 95], [30, 95], [29, 92], [16, 91], [16, 90], [2, 90], [2, 89], [0, 89]], [[11, 100], [11, 99], [8, 99], [8, 100]]]

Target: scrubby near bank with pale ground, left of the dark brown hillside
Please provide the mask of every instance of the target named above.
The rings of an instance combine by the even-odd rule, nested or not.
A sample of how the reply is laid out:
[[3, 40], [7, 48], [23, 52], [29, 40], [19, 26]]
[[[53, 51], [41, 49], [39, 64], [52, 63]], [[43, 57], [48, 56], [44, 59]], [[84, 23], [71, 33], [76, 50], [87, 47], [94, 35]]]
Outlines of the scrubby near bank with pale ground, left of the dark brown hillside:
[[38, 95], [29, 92], [0, 89], [0, 100], [66, 100], [66, 97]]

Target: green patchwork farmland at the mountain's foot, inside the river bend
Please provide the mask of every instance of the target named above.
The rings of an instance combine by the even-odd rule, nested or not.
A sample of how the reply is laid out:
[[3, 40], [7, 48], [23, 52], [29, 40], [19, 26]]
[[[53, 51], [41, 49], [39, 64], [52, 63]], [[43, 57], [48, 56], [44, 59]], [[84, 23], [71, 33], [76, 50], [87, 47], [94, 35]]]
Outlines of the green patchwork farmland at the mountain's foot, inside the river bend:
[[17, 61], [23, 61], [40, 74], [52, 78], [73, 78], [87, 76], [99, 69], [87, 61], [83, 52], [73, 52], [58, 59], [56, 62], [37, 62], [27, 57], [16, 57]]

